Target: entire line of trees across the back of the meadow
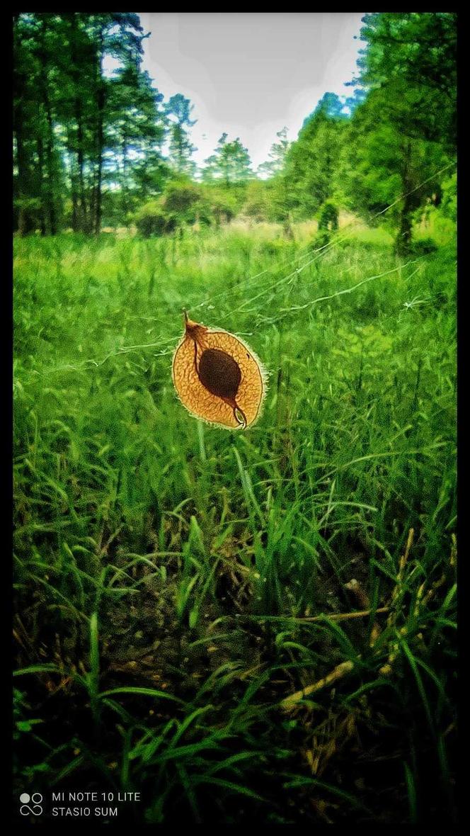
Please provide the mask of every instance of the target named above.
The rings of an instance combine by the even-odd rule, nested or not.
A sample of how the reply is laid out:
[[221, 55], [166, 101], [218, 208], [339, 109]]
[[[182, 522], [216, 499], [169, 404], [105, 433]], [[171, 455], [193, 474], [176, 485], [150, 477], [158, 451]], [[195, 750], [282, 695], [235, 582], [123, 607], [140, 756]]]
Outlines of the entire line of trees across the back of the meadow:
[[182, 94], [165, 102], [142, 69], [138, 15], [17, 14], [18, 233], [99, 233], [106, 221], [144, 218], [142, 229], [163, 234], [181, 214], [287, 222], [326, 204], [371, 221], [403, 195], [390, 216], [405, 251], [417, 212], [429, 201], [455, 204], [457, 15], [371, 13], [362, 23], [351, 96], [326, 93], [294, 142], [282, 128], [257, 172], [240, 137], [226, 133], [198, 171], [193, 106]]

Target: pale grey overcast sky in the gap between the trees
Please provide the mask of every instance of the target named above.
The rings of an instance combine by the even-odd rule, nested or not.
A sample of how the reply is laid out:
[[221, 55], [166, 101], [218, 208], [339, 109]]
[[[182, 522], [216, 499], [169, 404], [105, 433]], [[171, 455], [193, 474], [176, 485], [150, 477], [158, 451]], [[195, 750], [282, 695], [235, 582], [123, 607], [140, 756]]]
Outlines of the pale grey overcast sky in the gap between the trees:
[[326, 92], [351, 95], [363, 12], [139, 12], [143, 68], [165, 99], [187, 96], [202, 163], [220, 135], [240, 136], [254, 168], [284, 125], [296, 139]]

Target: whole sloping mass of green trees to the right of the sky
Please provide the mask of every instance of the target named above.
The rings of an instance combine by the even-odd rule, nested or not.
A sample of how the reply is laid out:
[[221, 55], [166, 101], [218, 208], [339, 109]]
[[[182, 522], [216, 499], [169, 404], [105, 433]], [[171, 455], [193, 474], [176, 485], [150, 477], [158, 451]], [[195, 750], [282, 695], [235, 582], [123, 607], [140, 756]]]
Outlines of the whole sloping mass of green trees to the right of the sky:
[[[453, 13], [366, 14], [361, 85], [342, 102], [325, 94], [286, 154], [275, 192], [311, 217], [331, 195], [368, 222], [387, 213], [397, 251], [411, 247], [412, 219], [442, 191], [455, 153], [456, 18]], [[281, 199], [282, 200], [282, 199]], [[452, 211], [452, 210], [451, 210]]]

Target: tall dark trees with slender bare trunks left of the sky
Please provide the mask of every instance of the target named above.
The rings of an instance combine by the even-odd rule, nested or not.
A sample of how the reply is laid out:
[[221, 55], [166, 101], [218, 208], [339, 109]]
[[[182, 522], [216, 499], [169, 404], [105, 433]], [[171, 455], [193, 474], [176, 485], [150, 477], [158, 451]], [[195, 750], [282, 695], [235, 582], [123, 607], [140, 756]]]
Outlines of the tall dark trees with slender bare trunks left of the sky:
[[[122, 226], [137, 208], [136, 191], [139, 202], [159, 194], [166, 168], [163, 96], [140, 69], [139, 17], [20, 13], [13, 34], [18, 232], [99, 232], [107, 192], [106, 220], [119, 213]], [[110, 57], [119, 64], [106, 74]]]

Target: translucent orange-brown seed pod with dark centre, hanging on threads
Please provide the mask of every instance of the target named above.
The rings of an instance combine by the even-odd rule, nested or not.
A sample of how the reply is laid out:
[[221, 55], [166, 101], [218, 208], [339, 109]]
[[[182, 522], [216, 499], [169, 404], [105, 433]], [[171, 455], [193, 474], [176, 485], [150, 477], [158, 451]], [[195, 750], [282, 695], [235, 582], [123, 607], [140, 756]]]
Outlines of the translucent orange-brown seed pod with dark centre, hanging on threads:
[[239, 337], [209, 329], [184, 313], [184, 336], [173, 357], [179, 400], [197, 418], [230, 430], [245, 430], [260, 416], [266, 374]]

